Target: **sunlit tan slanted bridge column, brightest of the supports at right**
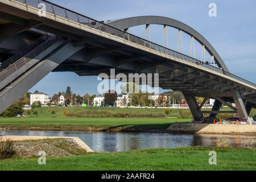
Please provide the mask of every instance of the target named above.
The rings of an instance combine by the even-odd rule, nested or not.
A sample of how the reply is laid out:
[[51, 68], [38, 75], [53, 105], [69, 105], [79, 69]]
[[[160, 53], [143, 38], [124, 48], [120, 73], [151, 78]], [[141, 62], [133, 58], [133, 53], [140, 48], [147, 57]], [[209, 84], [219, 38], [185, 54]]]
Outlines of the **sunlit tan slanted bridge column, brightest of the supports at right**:
[[243, 103], [241, 94], [238, 90], [231, 90], [234, 103], [236, 104], [237, 113], [240, 119], [247, 119], [248, 114], [245, 109], [245, 104]]

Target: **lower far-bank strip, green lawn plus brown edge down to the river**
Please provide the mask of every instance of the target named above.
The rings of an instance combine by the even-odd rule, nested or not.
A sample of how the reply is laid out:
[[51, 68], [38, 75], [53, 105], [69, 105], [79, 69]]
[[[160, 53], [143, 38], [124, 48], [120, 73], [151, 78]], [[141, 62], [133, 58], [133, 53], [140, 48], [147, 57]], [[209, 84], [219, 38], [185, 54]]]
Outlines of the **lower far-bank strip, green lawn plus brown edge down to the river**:
[[165, 131], [175, 118], [0, 118], [0, 129], [55, 131]]

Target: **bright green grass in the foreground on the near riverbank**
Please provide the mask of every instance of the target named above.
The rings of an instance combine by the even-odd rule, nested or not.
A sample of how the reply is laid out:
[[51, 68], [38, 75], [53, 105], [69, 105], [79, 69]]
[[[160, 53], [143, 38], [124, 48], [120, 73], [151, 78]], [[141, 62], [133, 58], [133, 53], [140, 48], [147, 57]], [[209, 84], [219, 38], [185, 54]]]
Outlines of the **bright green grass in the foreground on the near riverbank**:
[[[217, 152], [210, 165], [209, 151]], [[184, 147], [94, 153], [80, 156], [0, 160], [0, 170], [255, 170], [256, 152], [247, 148]]]

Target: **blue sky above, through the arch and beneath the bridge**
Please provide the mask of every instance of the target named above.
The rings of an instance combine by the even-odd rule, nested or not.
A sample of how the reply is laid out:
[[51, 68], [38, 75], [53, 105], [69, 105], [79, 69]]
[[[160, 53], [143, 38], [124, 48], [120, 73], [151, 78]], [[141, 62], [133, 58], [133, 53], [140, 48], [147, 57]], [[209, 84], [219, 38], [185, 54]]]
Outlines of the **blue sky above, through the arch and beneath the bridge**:
[[[194, 0], [52, 0], [97, 20], [113, 20], [130, 16], [159, 15], [188, 24], [206, 38], [216, 49], [229, 71], [251, 82], [256, 82], [256, 1]], [[209, 17], [209, 3], [216, 3], [217, 17]], [[130, 29], [131, 34], [144, 38], [144, 26]], [[162, 44], [163, 26], [151, 26], [151, 41]], [[168, 27], [169, 48], [177, 50], [178, 32]], [[184, 53], [189, 55], [190, 38], [183, 34]], [[201, 48], [196, 44], [196, 58], [201, 59]], [[207, 57], [208, 58], [208, 57]], [[71, 86], [73, 93], [98, 94], [97, 76], [79, 77], [71, 72], [49, 73], [30, 92], [39, 90], [52, 96]], [[163, 92], [163, 90], [160, 90]]]

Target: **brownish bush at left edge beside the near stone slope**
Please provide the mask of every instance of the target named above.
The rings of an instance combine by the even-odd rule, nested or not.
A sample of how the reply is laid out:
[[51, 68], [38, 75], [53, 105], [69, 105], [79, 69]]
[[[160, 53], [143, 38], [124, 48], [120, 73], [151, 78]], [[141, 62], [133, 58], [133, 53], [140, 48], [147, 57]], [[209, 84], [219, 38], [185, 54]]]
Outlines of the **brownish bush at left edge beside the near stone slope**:
[[5, 142], [0, 141], [0, 159], [6, 159], [15, 154], [13, 141], [7, 139]]

